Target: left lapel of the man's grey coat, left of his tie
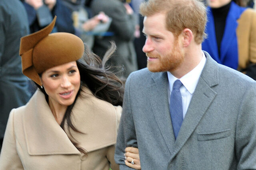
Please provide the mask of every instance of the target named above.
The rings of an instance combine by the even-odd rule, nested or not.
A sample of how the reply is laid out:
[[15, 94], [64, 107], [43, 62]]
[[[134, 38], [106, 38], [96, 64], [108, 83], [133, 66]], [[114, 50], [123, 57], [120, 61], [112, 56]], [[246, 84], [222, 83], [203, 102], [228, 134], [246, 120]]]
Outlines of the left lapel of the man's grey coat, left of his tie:
[[169, 102], [167, 73], [155, 73], [153, 74], [152, 78], [153, 82], [152, 86], [149, 88], [149, 98], [154, 111], [153, 115], [169, 151], [172, 152], [175, 139], [172, 129], [170, 109], [168, 107]]

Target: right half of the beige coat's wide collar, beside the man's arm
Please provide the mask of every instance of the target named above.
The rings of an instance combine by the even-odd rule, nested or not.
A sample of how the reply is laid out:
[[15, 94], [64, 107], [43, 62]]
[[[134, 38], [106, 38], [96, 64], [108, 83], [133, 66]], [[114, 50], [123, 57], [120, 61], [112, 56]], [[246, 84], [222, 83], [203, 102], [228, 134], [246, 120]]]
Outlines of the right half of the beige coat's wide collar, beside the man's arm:
[[[72, 123], [82, 133], [70, 129], [79, 146], [87, 152], [116, 144], [118, 121], [122, 107], [96, 98], [88, 88], [82, 88], [81, 96], [72, 109]], [[65, 126], [68, 136], [71, 136]]]

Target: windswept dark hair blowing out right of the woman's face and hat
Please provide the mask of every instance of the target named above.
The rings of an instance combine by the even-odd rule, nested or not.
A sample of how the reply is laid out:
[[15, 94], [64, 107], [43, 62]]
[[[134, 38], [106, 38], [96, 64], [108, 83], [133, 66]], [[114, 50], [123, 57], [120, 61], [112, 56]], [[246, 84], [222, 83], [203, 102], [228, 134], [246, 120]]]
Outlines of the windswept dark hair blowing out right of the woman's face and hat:
[[[76, 61], [80, 71], [82, 85], [87, 86], [96, 98], [105, 100], [114, 106], [122, 106], [124, 95], [124, 80], [114, 74], [113, 66], [106, 62], [116, 50], [115, 43], [105, 53], [102, 60], [96, 54], [86, 51], [85, 57]], [[118, 68], [115, 67], [118, 71]]]

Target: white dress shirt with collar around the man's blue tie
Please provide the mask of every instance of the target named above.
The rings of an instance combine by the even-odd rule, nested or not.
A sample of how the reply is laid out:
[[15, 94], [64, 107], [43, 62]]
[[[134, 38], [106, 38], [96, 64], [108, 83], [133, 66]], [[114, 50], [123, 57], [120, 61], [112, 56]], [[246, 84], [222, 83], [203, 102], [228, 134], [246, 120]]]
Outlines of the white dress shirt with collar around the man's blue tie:
[[[202, 59], [200, 63], [190, 72], [182, 76], [179, 80], [182, 82], [182, 86], [180, 87], [180, 93], [182, 96], [182, 109], [183, 109], [183, 119], [186, 115], [186, 112], [188, 110], [188, 106], [190, 103], [190, 100], [193, 96], [193, 93], [196, 89], [196, 85], [198, 83], [198, 80], [200, 78], [200, 75], [202, 73], [202, 70], [204, 68], [204, 64], [206, 62], [206, 57], [204, 53], [202, 52]], [[173, 76], [170, 72], [167, 72], [168, 75], [168, 81], [169, 81], [169, 104], [170, 104], [170, 95], [172, 93], [172, 86], [174, 82], [178, 79], [175, 76]]]

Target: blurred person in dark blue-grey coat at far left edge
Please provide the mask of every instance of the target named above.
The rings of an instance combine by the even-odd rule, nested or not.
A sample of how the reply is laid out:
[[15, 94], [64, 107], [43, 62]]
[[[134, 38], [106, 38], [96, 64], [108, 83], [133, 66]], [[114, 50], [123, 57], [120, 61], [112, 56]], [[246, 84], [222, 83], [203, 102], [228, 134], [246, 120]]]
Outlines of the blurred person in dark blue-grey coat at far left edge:
[[20, 0], [0, 1], [0, 150], [11, 109], [30, 98], [19, 56], [20, 38], [29, 33], [26, 15]]

